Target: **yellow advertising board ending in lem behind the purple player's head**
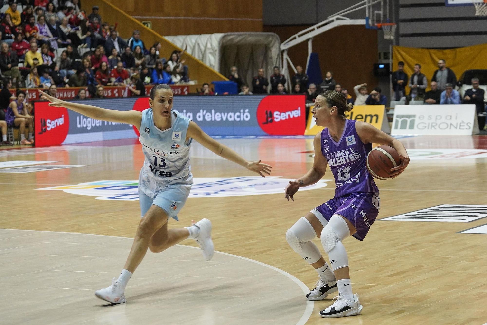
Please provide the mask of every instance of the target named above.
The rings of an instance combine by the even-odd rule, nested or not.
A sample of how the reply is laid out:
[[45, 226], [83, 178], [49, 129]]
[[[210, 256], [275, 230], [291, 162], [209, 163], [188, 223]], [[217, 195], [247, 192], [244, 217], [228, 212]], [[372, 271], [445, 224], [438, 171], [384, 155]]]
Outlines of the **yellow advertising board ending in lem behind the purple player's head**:
[[[313, 107], [311, 106], [309, 109], [308, 122], [304, 135], [316, 135], [324, 129], [324, 127], [316, 125], [315, 119], [313, 119], [313, 113], [311, 113]], [[384, 121], [385, 109], [386, 107], [384, 105], [358, 105], [354, 106], [351, 112], [346, 112], [345, 116], [350, 120], [371, 123], [380, 130]]]

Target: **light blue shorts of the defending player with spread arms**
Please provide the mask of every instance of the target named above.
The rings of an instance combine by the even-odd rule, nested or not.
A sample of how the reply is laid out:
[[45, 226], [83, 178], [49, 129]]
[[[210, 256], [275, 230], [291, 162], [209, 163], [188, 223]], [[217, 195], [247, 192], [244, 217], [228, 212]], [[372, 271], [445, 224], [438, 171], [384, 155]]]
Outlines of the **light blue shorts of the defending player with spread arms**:
[[144, 218], [144, 215], [149, 211], [150, 206], [154, 204], [166, 212], [168, 219], [173, 218], [176, 221], [179, 221], [177, 214], [186, 203], [192, 185], [192, 178], [187, 181], [174, 180], [168, 182], [161, 186], [160, 190], [155, 195], [155, 198], [146, 195], [139, 187], [141, 217]]

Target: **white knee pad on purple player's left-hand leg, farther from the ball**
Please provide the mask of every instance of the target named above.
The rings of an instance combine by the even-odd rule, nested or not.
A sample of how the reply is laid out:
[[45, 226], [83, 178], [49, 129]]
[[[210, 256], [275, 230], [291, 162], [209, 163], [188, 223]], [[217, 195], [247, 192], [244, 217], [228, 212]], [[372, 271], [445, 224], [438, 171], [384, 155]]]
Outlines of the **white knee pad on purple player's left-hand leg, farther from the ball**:
[[315, 238], [315, 229], [304, 217], [286, 232], [286, 241], [289, 246], [309, 264], [316, 263], [321, 258], [318, 247], [312, 242]]

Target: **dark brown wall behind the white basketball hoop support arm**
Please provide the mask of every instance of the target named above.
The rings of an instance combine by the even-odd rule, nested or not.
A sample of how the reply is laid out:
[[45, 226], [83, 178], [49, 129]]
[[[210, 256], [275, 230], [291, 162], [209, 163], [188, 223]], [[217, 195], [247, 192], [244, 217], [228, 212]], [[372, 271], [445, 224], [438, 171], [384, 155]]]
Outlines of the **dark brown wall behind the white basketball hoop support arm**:
[[[276, 33], [282, 42], [307, 27], [309, 25], [264, 26], [263, 30]], [[313, 52], [318, 53], [323, 78], [326, 71], [333, 71], [335, 80], [354, 97], [356, 84], [367, 82], [369, 91], [378, 84], [373, 76], [373, 64], [378, 61], [375, 30], [361, 25], [335, 27], [314, 38]], [[291, 47], [288, 54], [295, 65], [305, 67], [308, 42]]]

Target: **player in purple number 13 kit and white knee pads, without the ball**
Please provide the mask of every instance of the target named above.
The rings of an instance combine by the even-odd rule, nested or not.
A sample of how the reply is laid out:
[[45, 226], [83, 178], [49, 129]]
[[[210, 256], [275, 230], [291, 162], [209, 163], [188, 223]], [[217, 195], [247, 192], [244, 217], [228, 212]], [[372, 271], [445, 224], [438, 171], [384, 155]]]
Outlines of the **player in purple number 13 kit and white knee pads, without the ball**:
[[[289, 245], [319, 274], [316, 287], [306, 298], [323, 300], [338, 291], [337, 301], [319, 312], [324, 318], [353, 316], [362, 311], [358, 295], [352, 293], [347, 252], [341, 242], [349, 236], [363, 241], [379, 213], [379, 190], [366, 167], [372, 143], [387, 144], [399, 153], [401, 163], [391, 169], [392, 178], [402, 173], [409, 163], [401, 142], [369, 123], [347, 120], [345, 112], [353, 107], [335, 90], [325, 91], [316, 98], [313, 118], [325, 129], [314, 140], [313, 168], [300, 179], [289, 182], [284, 190], [286, 199], [294, 201], [293, 196], [300, 187], [321, 180], [327, 165], [335, 177], [335, 197], [313, 209], [286, 232]], [[312, 242], [317, 235], [330, 264]]]

